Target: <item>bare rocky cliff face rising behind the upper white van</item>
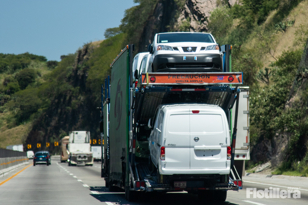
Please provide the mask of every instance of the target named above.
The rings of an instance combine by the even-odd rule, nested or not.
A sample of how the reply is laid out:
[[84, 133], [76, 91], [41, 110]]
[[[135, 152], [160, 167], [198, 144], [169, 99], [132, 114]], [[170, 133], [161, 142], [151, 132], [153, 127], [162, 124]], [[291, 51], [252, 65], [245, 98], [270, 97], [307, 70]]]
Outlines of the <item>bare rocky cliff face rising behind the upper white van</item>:
[[[206, 32], [211, 11], [219, 6], [239, 4], [239, 0], [186, 0], [184, 6], [174, 0], [159, 0], [139, 41], [139, 52], [146, 52], [156, 33], [183, 31]], [[189, 22], [188, 22], [189, 21]], [[189, 25], [190, 24], [190, 25]]]

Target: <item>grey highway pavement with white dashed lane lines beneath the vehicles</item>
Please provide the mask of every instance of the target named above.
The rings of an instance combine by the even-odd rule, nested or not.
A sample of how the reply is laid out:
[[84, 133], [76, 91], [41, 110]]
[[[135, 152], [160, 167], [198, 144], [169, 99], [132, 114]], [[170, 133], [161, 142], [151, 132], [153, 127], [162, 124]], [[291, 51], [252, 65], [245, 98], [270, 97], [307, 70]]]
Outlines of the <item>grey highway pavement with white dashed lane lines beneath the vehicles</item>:
[[[31, 161], [30, 161], [31, 163]], [[12, 171], [14, 175], [16, 171]], [[6, 176], [9, 179], [9, 176]], [[255, 178], [255, 179], [254, 179]], [[246, 188], [257, 190], [270, 187], [287, 190], [287, 187], [297, 187], [297, 181], [285, 179], [261, 179], [257, 177], [244, 177], [243, 190], [228, 191], [227, 200], [224, 203], [201, 202], [197, 195], [185, 192], [173, 192], [166, 194], [147, 193], [137, 202], [125, 200], [123, 191], [109, 192], [105, 187], [103, 178], [100, 177], [100, 162], [95, 162], [93, 167], [68, 167], [67, 163], [60, 163], [58, 158], [52, 158], [51, 165], [30, 165], [14, 178], [0, 185], [0, 204], [101, 204], [101, 205], [154, 205], [154, 204], [239, 204], [239, 205], [283, 205], [283, 204], [307, 204], [308, 188], [301, 187], [301, 198], [250, 198], [246, 197]], [[0, 178], [0, 181], [3, 179]], [[250, 182], [248, 182], [250, 181]], [[253, 183], [252, 183], [253, 182]], [[303, 180], [300, 181], [302, 184]], [[268, 185], [267, 185], [268, 184]], [[300, 184], [300, 185], [302, 185]], [[274, 186], [277, 185], [277, 186]], [[297, 187], [297, 188], [299, 188]], [[253, 193], [253, 191], [251, 191]], [[262, 195], [258, 195], [262, 196]]]

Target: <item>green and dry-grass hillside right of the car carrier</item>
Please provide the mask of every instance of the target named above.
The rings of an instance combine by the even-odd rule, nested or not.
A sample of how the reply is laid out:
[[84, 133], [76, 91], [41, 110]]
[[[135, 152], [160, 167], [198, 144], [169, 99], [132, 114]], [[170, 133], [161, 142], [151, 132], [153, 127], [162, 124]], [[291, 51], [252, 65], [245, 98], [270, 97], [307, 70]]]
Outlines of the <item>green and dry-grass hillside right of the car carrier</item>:
[[218, 43], [233, 45], [232, 70], [250, 86], [249, 164], [274, 159], [278, 138], [287, 141], [275, 174], [308, 175], [307, 106], [285, 107], [307, 42], [307, 9], [308, 1], [243, 1], [209, 18]]

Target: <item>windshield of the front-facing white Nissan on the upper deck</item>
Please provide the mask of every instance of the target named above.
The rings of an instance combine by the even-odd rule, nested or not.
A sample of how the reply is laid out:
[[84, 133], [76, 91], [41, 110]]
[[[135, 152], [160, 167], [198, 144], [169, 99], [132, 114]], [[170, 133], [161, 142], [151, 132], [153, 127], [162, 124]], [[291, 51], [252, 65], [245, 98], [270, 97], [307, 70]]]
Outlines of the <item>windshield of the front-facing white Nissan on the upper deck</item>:
[[170, 33], [170, 34], [157, 35], [157, 43], [173, 43], [173, 42], [214, 43], [214, 40], [210, 34], [202, 34], [202, 33]]

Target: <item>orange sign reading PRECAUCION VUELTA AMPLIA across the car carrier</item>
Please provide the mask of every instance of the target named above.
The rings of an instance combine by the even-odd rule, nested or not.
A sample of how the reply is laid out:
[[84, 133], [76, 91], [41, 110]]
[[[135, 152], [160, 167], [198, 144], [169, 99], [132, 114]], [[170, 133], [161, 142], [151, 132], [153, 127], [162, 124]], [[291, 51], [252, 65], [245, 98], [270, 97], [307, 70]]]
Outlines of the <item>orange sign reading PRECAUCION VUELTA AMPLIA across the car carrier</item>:
[[141, 73], [142, 85], [243, 84], [243, 73]]

